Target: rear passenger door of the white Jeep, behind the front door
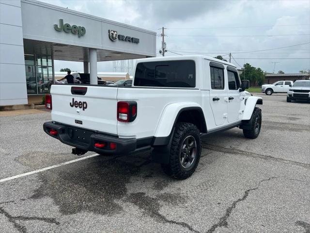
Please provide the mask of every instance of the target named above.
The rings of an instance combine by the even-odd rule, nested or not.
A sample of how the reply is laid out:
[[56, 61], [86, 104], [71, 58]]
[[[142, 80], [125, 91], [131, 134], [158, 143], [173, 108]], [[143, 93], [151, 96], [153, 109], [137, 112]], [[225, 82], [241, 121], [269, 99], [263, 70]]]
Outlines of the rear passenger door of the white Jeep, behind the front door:
[[227, 89], [224, 82], [224, 66], [210, 62], [210, 105], [216, 125], [224, 125], [227, 118]]

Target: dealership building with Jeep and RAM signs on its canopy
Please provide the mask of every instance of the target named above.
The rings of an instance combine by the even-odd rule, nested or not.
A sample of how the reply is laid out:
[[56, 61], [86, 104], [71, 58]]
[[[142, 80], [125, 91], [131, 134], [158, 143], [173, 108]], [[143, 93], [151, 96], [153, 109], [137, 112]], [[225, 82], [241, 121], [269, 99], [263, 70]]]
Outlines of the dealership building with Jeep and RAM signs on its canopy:
[[54, 60], [97, 62], [156, 56], [156, 33], [36, 0], [0, 0], [0, 106], [49, 93]]

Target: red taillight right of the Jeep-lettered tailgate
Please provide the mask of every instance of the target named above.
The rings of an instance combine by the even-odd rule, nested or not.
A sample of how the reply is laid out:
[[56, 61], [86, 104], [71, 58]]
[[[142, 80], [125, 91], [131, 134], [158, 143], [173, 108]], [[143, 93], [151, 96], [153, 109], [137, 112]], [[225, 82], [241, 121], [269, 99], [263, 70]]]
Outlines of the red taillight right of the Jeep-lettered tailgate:
[[137, 116], [136, 101], [119, 101], [117, 103], [117, 120], [123, 122], [132, 122]]

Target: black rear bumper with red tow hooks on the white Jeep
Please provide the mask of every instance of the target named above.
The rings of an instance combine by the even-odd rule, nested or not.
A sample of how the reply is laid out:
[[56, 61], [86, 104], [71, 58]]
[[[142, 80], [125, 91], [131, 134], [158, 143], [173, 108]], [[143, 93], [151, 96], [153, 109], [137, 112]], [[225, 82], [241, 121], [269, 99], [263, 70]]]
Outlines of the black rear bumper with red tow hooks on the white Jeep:
[[[119, 138], [118, 136], [64, 125], [53, 121], [45, 122], [43, 124], [43, 129], [49, 136], [81, 150], [94, 151], [102, 154], [121, 154], [132, 152], [137, 149], [136, 138]], [[50, 130], [57, 131], [57, 134], [52, 135]], [[98, 148], [94, 146], [95, 143], [105, 144], [105, 146]], [[111, 149], [110, 143], [115, 143], [116, 148]]]

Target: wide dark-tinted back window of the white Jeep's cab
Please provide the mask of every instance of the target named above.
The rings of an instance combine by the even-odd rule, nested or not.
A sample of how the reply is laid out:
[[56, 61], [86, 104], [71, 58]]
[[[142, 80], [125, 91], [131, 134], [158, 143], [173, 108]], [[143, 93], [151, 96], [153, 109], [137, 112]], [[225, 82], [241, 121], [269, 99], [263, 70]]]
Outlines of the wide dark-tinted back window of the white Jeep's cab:
[[138, 63], [134, 85], [195, 87], [195, 62], [192, 60], [178, 60]]

